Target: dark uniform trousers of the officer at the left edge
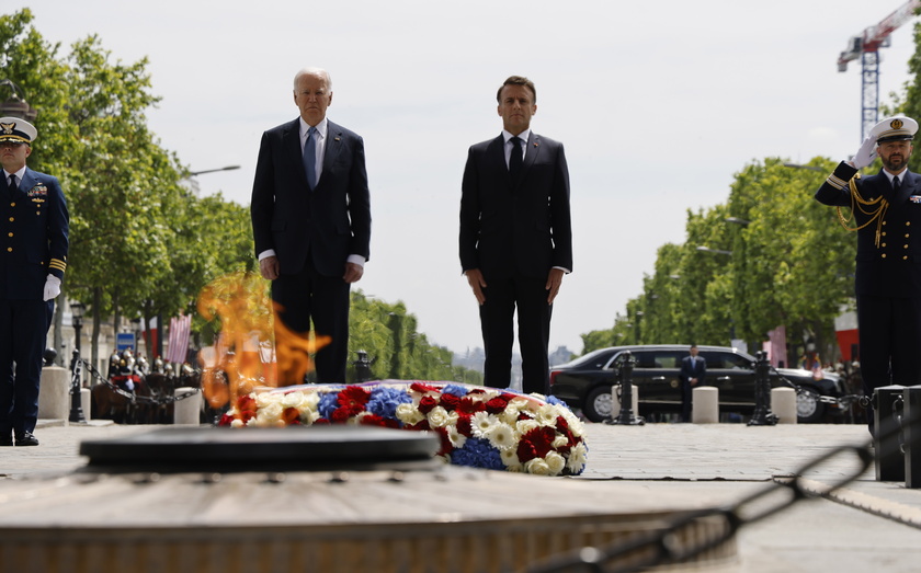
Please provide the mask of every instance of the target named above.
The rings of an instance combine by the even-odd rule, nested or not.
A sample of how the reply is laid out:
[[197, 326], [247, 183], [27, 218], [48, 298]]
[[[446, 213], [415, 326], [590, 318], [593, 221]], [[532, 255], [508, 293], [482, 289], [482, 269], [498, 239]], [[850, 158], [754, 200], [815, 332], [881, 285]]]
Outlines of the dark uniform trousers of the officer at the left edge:
[[[34, 432], [42, 354], [48, 333], [44, 300], [0, 300], [0, 434]], [[15, 370], [14, 370], [15, 368]]]

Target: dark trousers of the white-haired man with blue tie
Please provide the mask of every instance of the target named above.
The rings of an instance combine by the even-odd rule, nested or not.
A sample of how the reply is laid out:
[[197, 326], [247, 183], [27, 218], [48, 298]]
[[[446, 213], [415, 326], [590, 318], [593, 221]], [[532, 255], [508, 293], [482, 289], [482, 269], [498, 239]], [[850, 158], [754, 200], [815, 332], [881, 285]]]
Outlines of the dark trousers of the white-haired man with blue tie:
[[[312, 265], [305, 265], [296, 275], [281, 275], [272, 282], [272, 300], [281, 308], [278, 317], [284, 326], [305, 335], [314, 323], [316, 336], [329, 336], [330, 342], [316, 355], [318, 382], [345, 383], [345, 362], [349, 358], [349, 290], [351, 285], [341, 276], [323, 276]], [[284, 341], [275, 323], [275, 343]], [[295, 353], [300, 356], [304, 353]], [[278, 376], [291, 371], [278, 362]], [[282, 385], [303, 380], [280, 379]]]

